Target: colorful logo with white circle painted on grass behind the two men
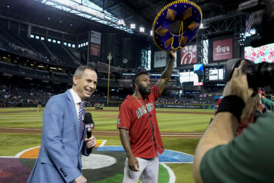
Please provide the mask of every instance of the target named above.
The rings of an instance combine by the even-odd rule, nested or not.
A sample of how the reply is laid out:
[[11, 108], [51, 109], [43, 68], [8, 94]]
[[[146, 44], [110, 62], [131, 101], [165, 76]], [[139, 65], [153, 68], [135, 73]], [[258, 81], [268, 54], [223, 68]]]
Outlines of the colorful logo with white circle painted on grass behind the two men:
[[[90, 156], [82, 156], [83, 175], [88, 180], [96, 183], [115, 182], [118, 180], [122, 182], [123, 167], [125, 165], [125, 149], [121, 146], [104, 146], [105, 142], [105, 140], [97, 140], [97, 146], [93, 149], [92, 154], [90, 154]], [[30, 169], [33, 167], [32, 164], [34, 164], [35, 159], [38, 157], [39, 149], [40, 147], [33, 147], [21, 151], [21, 153], [16, 154], [15, 157], [3, 158], [16, 160], [17, 164], [20, 162], [21, 167], [25, 167], [25, 165], [28, 164], [26, 171], [30, 173]], [[164, 153], [159, 156], [159, 160], [159, 175], [161, 175], [159, 182], [173, 183], [175, 182], [175, 175], [165, 163], [192, 163], [193, 156], [179, 151], [165, 150]], [[0, 172], [0, 176], [9, 175], [7, 173], [9, 172]]]

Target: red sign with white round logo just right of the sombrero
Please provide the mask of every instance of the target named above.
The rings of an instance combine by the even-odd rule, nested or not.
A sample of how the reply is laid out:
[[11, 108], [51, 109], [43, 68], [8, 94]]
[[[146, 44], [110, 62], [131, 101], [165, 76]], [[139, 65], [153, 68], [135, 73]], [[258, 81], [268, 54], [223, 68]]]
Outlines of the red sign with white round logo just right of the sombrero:
[[197, 62], [197, 45], [185, 46], [181, 49], [181, 64], [195, 64]]

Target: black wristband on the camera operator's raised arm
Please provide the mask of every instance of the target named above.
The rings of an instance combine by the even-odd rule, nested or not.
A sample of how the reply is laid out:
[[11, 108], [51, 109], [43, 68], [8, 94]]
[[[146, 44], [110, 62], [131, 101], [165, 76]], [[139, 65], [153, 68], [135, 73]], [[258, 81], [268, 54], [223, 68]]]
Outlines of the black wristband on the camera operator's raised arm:
[[218, 112], [231, 112], [240, 122], [240, 115], [242, 114], [242, 110], [245, 108], [245, 102], [241, 97], [236, 95], [228, 95], [223, 97], [218, 110]]

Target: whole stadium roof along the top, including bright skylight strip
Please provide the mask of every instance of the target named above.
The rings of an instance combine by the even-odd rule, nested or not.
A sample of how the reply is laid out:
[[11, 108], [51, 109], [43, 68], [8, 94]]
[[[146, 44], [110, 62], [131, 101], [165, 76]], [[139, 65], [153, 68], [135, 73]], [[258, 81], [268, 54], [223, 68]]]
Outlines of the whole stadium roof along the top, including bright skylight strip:
[[[63, 2], [62, 6], [56, 3], [57, 1]], [[81, 9], [79, 5], [69, 7], [68, 1], [79, 5], [94, 3], [101, 10], [97, 10], [95, 16], [92, 14], [87, 14], [86, 17], [79, 16], [84, 14], [79, 12]], [[244, 1], [246, 0], [196, 0], [194, 2], [203, 12], [203, 22], [210, 22], [239, 14], [238, 4]], [[9, 0], [0, 1], [0, 18], [25, 21], [46, 29], [57, 29], [64, 34], [77, 35], [92, 29], [92, 25], [95, 25], [96, 21], [100, 22], [100, 16], [104, 14], [108, 16], [108, 19], [101, 20], [101, 23], [107, 21], [107, 25], [115, 27], [119, 25], [119, 20], [123, 20], [125, 27], [121, 29], [149, 36], [155, 16], [171, 2], [168, 0]], [[135, 30], [129, 29], [130, 23], [136, 24]], [[98, 23], [96, 25], [99, 26]], [[140, 33], [139, 27], [144, 27], [145, 32]]]

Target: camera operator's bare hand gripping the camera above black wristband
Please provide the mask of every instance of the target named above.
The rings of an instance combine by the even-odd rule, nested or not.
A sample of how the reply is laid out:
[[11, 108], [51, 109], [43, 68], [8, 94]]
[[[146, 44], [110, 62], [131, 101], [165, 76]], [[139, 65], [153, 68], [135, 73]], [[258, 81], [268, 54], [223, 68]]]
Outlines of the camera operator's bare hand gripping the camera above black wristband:
[[225, 85], [225, 89], [223, 90], [223, 97], [227, 95], [236, 95], [241, 97], [245, 103], [247, 103], [247, 99], [249, 99], [253, 93], [253, 89], [248, 87], [247, 83], [247, 62], [242, 60], [240, 62], [240, 66], [234, 69], [232, 78]]

